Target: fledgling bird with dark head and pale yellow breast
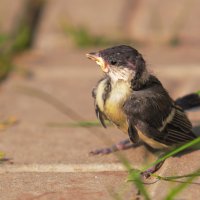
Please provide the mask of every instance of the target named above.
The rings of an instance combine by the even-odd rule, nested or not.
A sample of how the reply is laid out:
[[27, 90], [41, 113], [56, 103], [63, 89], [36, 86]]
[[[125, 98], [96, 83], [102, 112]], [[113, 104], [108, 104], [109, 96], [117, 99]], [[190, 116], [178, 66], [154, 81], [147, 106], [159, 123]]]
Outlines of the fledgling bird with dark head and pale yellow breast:
[[[105, 120], [109, 120], [128, 134], [133, 144], [142, 141], [161, 152], [197, 137], [183, 110], [187, 101], [174, 101], [170, 97], [159, 79], [149, 72], [142, 54], [135, 48], [118, 45], [86, 56], [104, 72], [104, 77], [92, 91], [95, 112], [104, 127]], [[149, 177], [162, 164], [158, 163], [142, 174]]]

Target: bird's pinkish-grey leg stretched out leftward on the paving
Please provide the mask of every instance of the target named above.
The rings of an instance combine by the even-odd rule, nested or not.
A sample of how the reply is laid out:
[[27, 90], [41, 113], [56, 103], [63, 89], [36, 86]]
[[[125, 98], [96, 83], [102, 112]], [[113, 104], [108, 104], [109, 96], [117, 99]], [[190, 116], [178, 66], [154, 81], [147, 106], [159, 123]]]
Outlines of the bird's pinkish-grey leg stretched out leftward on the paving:
[[120, 141], [117, 144], [112, 145], [111, 147], [96, 149], [94, 151], [91, 151], [90, 154], [91, 155], [99, 155], [99, 154], [105, 155], [105, 154], [110, 154], [110, 153], [120, 151], [120, 150], [130, 149], [134, 146], [135, 144], [133, 144], [129, 139], [126, 139], [126, 140]]

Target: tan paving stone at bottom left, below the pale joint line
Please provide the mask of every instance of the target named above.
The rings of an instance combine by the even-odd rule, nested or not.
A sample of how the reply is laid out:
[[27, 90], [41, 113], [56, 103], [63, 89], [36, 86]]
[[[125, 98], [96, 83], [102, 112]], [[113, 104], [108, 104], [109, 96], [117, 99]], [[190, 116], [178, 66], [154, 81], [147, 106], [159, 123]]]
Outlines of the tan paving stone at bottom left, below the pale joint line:
[[125, 182], [125, 172], [8, 173], [1, 175], [1, 200], [113, 199], [121, 193], [132, 199], [136, 192]]

